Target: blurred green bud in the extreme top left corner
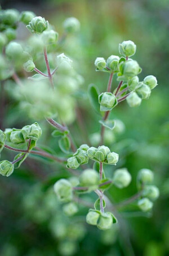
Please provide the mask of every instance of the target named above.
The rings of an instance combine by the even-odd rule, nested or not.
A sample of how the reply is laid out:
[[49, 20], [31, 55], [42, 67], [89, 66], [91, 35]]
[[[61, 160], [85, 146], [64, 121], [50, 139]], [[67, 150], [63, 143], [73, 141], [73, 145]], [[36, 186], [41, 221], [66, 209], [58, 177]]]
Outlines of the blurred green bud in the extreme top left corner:
[[19, 20], [19, 12], [14, 9], [4, 10], [2, 22], [7, 25], [14, 25]]

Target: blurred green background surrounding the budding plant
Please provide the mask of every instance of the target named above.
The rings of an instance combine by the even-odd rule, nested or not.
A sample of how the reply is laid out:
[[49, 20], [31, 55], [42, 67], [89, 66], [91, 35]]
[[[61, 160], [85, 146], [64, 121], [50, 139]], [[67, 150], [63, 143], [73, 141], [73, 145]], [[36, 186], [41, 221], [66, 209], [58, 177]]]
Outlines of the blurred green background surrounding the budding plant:
[[[146, 75], [154, 75], [157, 77], [158, 86], [152, 91], [150, 99], [143, 101], [139, 108], [130, 108], [124, 101], [111, 113], [113, 118], [124, 122], [126, 131], [115, 138], [110, 148], [120, 154], [122, 160], [117, 168], [127, 167], [132, 174], [132, 183], [123, 190], [112, 187], [108, 195], [109, 198], [113, 198], [114, 202], [119, 202], [136, 193], [136, 175], [141, 168], [154, 170], [155, 185], [159, 187], [161, 195], [154, 203], [151, 216], [137, 216], [133, 213], [132, 207], [123, 208], [121, 228], [117, 237], [111, 233], [105, 237], [104, 232], [84, 224], [87, 208], [82, 207], [77, 216], [68, 220], [68, 225], [74, 223], [77, 217], [78, 223], [84, 224], [83, 236], [79, 240], [76, 237], [72, 240], [70, 236], [68, 241], [75, 241], [76, 248], [73, 255], [168, 255], [168, 0], [52, 0], [35, 4], [29, 2], [29, 5], [25, 2], [14, 4], [14, 2], [2, 1], [2, 8], [17, 8], [19, 11], [32, 10], [54, 24], [60, 35], [61, 24], [65, 18], [75, 16], [79, 19], [81, 32], [77, 37], [71, 37], [65, 42], [64, 51], [77, 61], [77, 71], [85, 80], [83, 88], [85, 92], [90, 83], [95, 83], [101, 92], [106, 89], [108, 75], [95, 72], [95, 58], [107, 58], [111, 54], [118, 55], [118, 44], [123, 40], [135, 42], [137, 52], [134, 59], [143, 68], [139, 76], [140, 80], [143, 80]], [[23, 35], [19, 36], [23, 38]], [[24, 36], [27, 36], [26, 32]], [[117, 84], [113, 83], [113, 87], [116, 86]], [[26, 117], [18, 115], [18, 109], [15, 108], [10, 98], [8, 98], [8, 103], [5, 113], [6, 127], [21, 127], [30, 122]], [[88, 100], [87, 103], [86, 100], [79, 101], [79, 106], [88, 135], [98, 132], [100, 130], [99, 117], [91, 110]], [[45, 129], [45, 121], [41, 125]], [[70, 130], [77, 144], [85, 142], [81, 138], [76, 122]], [[57, 142], [48, 131], [45, 130], [42, 140], [43, 144], [51, 146], [55, 151], [58, 150]], [[107, 172], [111, 177], [112, 169], [107, 169]], [[56, 222], [64, 223], [65, 221], [66, 223], [66, 217], [62, 216], [61, 206], [57, 202], [55, 206], [55, 200], [49, 199], [50, 202], [54, 202], [51, 210], [44, 201], [47, 200], [45, 198], [49, 193], [45, 189], [46, 184], [50, 184], [50, 177], [54, 174], [62, 176], [67, 175], [67, 172], [57, 164], [43, 164], [37, 159], [32, 159], [16, 170], [11, 177], [0, 178], [0, 254], [2, 256], [63, 255], [60, 254], [59, 249], [60, 238], [52, 236], [49, 223], [58, 215], [60, 218], [56, 218]], [[38, 189], [40, 187], [41, 191], [34, 191], [34, 187]], [[30, 198], [28, 198], [29, 194]], [[33, 199], [33, 195], [37, 195], [36, 200]], [[26, 208], [23, 200], [30, 200], [30, 202], [35, 200], [35, 202], [33, 206], [29, 205]], [[93, 203], [95, 195], [87, 197], [87, 200]], [[135, 207], [133, 208], [135, 211]], [[30, 209], [33, 210], [30, 211]], [[36, 213], [37, 216], [35, 216]], [[74, 234], [75, 232], [77, 230]], [[108, 240], [110, 241], [106, 244], [105, 241]]]

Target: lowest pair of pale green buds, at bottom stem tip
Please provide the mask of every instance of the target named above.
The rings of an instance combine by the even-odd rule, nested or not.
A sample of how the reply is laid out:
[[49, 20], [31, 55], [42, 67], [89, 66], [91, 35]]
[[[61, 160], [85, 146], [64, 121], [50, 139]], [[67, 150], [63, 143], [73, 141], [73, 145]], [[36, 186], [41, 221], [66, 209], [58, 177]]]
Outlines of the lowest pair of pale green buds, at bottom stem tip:
[[86, 221], [90, 225], [96, 225], [101, 230], [110, 229], [113, 223], [117, 223], [117, 219], [112, 212], [100, 212], [94, 209], [90, 209]]

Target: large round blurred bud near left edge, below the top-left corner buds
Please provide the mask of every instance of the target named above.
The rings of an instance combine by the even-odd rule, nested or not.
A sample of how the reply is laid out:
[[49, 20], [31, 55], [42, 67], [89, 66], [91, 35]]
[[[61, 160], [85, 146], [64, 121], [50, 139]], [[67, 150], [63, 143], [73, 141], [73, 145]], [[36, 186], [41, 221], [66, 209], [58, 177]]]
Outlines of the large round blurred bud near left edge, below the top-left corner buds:
[[20, 59], [23, 55], [23, 48], [17, 42], [10, 42], [6, 47], [6, 55], [8, 58], [16, 60]]

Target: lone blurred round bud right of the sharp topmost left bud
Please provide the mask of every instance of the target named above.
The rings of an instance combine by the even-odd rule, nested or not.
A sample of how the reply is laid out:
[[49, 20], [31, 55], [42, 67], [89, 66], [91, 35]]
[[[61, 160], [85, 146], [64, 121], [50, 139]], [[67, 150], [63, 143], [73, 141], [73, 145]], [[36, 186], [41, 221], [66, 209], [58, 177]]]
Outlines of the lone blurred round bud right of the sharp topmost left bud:
[[63, 27], [66, 32], [74, 33], [79, 31], [81, 24], [79, 23], [78, 19], [70, 17], [64, 21]]

